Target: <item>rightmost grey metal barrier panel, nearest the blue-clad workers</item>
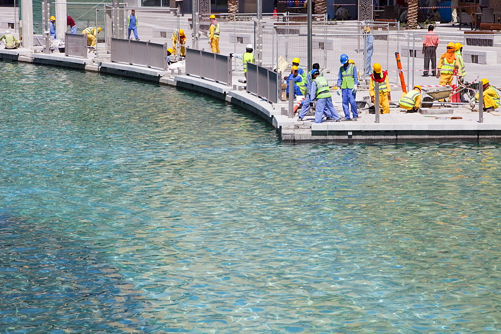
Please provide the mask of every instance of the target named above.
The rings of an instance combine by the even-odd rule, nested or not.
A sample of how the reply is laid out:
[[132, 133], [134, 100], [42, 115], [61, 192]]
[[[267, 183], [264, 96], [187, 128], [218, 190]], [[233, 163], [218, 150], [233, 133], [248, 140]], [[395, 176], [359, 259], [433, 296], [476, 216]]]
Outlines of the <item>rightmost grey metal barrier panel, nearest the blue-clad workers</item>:
[[247, 92], [277, 103], [279, 97], [278, 73], [263, 66], [247, 62]]

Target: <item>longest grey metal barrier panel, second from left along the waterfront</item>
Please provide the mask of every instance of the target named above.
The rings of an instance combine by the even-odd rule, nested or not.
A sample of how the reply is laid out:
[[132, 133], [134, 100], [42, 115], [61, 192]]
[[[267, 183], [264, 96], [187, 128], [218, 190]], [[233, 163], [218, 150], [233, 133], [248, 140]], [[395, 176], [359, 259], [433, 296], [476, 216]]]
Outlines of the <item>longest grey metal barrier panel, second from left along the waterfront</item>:
[[167, 45], [111, 38], [111, 61], [167, 70]]

